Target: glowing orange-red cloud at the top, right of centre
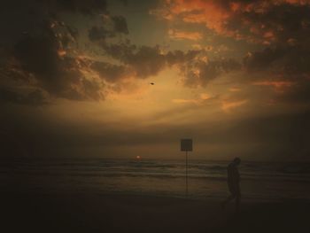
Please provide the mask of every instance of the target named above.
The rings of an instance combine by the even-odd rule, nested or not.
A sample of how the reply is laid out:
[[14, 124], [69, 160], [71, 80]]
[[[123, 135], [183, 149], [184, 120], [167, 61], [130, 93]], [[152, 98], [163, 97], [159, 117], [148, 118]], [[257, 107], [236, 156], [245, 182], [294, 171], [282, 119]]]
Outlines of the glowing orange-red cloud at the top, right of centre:
[[[269, 24], [267, 18], [259, 20], [251, 15], [268, 12], [280, 4], [306, 5], [309, 0], [273, 0], [273, 1], [216, 1], [216, 0], [166, 0], [162, 8], [152, 11], [167, 20], [181, 19], [187, 23], [204, 24], [219, 35], [246, 40], [251, 43], [270, 44], [281, 39], [277, 30], [279, 22]], [[266, 26], [268, 25], [268, 27]], [[280, 23], [281, 24], [281, 23]], [[233, 27], [230, 27], [233, 26]], [[171, 32], [169, 32], [170, 34]], [[174, 38], [198, 40], [199, 35], [174, 35]]]

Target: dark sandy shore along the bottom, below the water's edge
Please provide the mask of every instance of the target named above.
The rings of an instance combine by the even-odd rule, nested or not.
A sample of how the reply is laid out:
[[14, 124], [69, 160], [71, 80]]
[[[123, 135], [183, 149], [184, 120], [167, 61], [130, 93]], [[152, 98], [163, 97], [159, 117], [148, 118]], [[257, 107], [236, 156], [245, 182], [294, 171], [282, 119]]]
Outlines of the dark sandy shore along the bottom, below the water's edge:
[[3, 232], [306, 232], [310, 203], [246, 202], [239, 214], [220, 200], [143, 196], [5, 194]]

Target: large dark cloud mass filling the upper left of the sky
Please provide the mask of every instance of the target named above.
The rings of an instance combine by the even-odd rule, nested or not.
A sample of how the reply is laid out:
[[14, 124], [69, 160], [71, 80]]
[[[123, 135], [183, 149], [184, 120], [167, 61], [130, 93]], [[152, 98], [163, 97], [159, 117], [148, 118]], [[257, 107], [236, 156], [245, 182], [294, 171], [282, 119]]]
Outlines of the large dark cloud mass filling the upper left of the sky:
[[[58, 17], [62, 12], [107, 14], [105, 1], [11, 1], [1, 12], [12, 21], [12, 27], [4, 27], [0, 44], [2, 101], [43, 105], [48, 97], [105, 98], [104, 82], [90, 75], [91, 62], [77, 56], [79, 30]], [[125, 30], [124, 20], [115, 18], [117, 30]]]

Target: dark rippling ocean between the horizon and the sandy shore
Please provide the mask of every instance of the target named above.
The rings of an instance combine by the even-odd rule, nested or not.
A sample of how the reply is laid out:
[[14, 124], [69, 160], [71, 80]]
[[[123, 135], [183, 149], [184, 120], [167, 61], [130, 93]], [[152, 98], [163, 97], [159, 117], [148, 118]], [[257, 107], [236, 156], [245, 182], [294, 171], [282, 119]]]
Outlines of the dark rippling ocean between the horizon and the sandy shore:
[[[189, 161], [189, 198], [229, 195], [229, 161]], [[310, 163], [243, 161], [242, 199], [310, 200]], [[98, 193], [184, 198], [184, 160], [10, 159], [0, 162], [3, 193]]]

